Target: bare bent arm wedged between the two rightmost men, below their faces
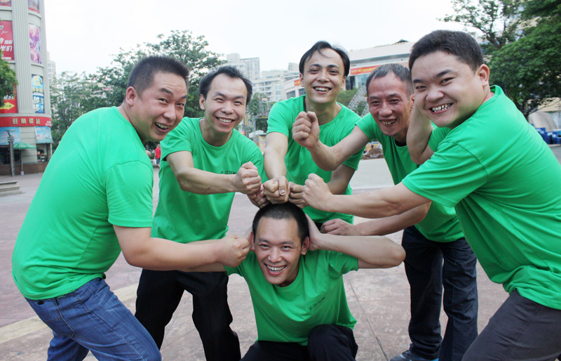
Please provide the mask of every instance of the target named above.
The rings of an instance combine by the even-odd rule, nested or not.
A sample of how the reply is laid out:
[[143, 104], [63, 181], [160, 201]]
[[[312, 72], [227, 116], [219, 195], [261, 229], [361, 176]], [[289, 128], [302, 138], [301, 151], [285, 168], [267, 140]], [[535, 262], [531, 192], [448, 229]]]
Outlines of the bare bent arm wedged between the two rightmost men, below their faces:
[[431, 120], [424, 116], [417, 105], [414, 105], [407, 130], [407, 150], [409, 150], [413, 162], [423, 164], [432, 157], [434, 152], [428, 146], [432, 132]]

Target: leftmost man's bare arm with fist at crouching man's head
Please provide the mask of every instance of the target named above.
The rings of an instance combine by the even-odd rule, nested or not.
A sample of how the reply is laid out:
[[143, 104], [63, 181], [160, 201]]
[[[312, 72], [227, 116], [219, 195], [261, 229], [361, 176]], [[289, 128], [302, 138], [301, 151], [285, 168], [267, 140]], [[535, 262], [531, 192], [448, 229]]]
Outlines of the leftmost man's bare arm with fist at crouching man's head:
[[147, 270], [184, 270], [220, 263], [235, 267], [249, 252], [248, 239], [223, 239], [182, 244], [150, 236], [150, 228], [113, 226], [126, 261]]

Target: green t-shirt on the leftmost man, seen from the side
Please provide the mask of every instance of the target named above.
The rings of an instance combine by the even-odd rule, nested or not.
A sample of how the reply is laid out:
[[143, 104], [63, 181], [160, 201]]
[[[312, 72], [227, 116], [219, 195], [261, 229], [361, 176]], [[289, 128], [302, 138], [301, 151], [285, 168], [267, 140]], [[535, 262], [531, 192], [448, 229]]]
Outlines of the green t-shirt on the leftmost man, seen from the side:
[[154, 170], [116, 107], [84, 114], [50, 159], [13, 252], [13, 278], [32, 299], [104, 277], [121, 252], [113, 225], [150, 227]]

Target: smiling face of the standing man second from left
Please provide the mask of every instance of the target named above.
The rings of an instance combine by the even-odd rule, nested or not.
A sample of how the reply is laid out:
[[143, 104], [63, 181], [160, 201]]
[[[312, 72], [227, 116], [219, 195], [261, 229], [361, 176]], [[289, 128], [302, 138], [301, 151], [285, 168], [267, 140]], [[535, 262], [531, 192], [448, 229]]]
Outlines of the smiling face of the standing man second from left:
[[248, 89], [242, 79], [218, 74], [212, 79], [206, 98], [201, 94], [198, 103], [205, 111], [201, 130], [208, 143], [217, 138], [229, 138], [234, 127], [245, 115]]

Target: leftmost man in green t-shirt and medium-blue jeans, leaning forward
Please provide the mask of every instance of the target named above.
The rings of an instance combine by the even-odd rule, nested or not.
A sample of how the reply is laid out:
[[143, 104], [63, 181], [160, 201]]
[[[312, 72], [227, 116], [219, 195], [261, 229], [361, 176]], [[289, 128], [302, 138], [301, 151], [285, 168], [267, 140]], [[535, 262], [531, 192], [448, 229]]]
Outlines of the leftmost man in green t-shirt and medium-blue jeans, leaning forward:
[[189, 70], [171, 58], [140, 60], [119, 107], [69, 127], [41, 179], [13, 251], [13, 279], [53, 339], [48, 360], [161, 360], [154, 340], [104, 282], [123, 251], [156, 270], [238, 265], [246, 239], [200, 244], [151, 237], [154, 170], [144, 150], [183, 117]]

